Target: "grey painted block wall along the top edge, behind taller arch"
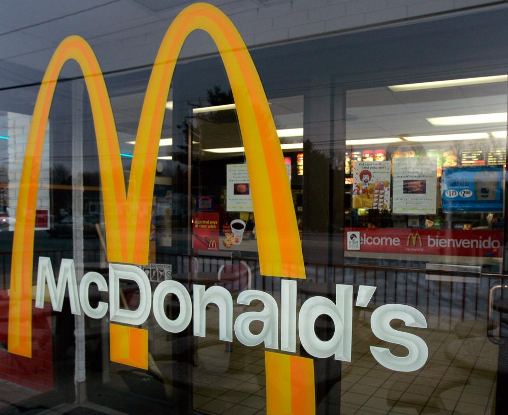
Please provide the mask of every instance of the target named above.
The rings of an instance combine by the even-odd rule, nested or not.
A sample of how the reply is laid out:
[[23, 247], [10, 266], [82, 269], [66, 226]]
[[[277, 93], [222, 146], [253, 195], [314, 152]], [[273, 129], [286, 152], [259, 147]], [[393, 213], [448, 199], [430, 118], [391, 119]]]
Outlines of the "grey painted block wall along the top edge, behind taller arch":
[[[225, 12], [248, 47], [355, 30], [498, 5], [493, 0], [209, 0]], [[188, 2], [191, 4], [193, 2]], [[157, 20], [96, 37], [91, 44], [104, 68], [153, 62], [166, 29], [187, 4], [155, 14]], [[141, 23], [141, 22], [140, 22]], [[126, 53], [129, 51], [129, 53]], [[191, 34], [180, 57], [216, 52], [204, 33]], [[114, 63], [113, 63], [114, 62]]]

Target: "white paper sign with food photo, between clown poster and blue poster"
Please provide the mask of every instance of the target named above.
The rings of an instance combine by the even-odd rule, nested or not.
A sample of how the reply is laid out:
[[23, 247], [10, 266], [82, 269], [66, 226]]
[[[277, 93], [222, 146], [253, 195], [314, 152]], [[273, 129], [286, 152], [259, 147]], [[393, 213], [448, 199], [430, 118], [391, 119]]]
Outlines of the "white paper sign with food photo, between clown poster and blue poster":
[[436, 213], [437, 157], [393, 159], [393, 213]]

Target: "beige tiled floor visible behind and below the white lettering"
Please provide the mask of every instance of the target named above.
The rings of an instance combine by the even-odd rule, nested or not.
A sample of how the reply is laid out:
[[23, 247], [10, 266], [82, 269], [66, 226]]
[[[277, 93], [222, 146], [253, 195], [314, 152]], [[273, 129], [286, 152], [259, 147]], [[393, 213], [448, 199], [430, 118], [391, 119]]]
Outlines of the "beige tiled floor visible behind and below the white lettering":
[[[226, 343], [214, 337], [214, 309], [208, 314], [211, 332], [199, 339], [194, 407], [210, 414], [264, 414], [264, 348], [235, 341], [228, 352]], [[484, 320], [427, 316], [427, 329], [404, 327], [429, 347], [425, 366], [410, 373], [386, 369], [372, 357], [369, 346], [380, 342], [370, 330], [369, 311], [355, 311], [353, 321], [352, 362], [342, 363], [341, 414], [494, 414], [497, 346], [487, 340]], [[402, 346], [390, 348], [405, 353]]]

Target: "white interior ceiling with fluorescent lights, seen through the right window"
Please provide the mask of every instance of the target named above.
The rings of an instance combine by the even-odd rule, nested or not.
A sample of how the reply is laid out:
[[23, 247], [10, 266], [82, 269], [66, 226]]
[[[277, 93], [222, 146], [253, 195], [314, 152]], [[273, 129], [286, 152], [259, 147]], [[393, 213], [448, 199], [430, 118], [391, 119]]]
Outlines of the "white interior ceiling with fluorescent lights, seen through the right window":
[[427, 118], [506, 112], [505, 82], [394, 92], [388, 87], [347, 93], [346, 137], [366, 138], [492, 132], [506, 123], [434, 126]]

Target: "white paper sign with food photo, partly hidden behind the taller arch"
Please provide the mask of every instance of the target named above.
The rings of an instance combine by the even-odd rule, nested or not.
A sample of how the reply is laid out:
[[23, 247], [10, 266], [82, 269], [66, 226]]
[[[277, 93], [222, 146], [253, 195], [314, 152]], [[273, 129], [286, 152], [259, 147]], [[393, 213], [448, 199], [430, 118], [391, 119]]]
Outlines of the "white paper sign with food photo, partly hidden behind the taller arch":
[[[291, 180], [291, 164], [286, 163], [285, 166]], [[247, 165], [228, 164], [226, 166], [226, 181], [226, 210], [228, 212], [253, 212]]]

